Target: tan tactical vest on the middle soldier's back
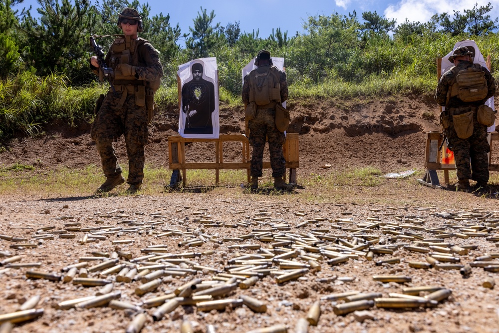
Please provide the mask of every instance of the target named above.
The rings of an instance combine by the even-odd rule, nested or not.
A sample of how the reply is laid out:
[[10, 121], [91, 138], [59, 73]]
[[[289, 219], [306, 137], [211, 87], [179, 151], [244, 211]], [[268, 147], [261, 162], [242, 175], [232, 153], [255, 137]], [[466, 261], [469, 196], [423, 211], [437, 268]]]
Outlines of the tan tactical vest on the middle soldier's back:
[[280, 83], [277, 67], [259, 67], [250, 72], [250, 102], [262, 106], [280, 103]]

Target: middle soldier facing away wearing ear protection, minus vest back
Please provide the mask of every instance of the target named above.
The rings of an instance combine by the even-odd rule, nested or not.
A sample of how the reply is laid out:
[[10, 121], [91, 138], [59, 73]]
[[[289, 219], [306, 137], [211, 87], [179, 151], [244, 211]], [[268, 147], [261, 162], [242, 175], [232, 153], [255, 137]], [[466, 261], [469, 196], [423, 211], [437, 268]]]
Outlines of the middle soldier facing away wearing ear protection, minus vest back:
[[263, 149], [265, 147], [265, 138], [268, 139], [268, 149], [270, 151], [270, 166], [272, 167], [272, 177], [274, 177], [274, 188], [290, 189], [292, 185], [284, 182], [283, 176], [286, 171], [286, 160], [282, 153], [282, 144], [286, 140], [284, 133], [275, 127], [275, 105], [287, 100], [288, 88], [286, 73], [272, 66], [270, 52], [261, 50], [255, 61], [256, 69], [253, 69], [244, 78], [243, 83], [243, 102], [247, 105], [251, 101], [255, 87], [251, 84], [252, 75], [272, 71], [274, 77], [279, 80], [280, 100], [271, 100], [267, 105], [257, 105], [254, 119], [250, 120], [250, 145], [253, 147], [250, 163], [251, 188], [258, 187], [258, 177], [262, 176], [263, 168]]

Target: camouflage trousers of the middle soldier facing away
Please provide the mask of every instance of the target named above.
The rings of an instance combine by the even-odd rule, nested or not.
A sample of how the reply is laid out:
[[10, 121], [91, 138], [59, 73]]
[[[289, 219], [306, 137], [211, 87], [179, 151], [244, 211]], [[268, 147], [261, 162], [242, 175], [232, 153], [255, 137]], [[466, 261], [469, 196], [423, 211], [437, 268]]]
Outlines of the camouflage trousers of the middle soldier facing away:
[[263, 168], [263, 148], [268, 138], [272, 177], [282, 177], [286, 173], [286, 160], [282, 154], [282, 144], [286, 140], [284, 133], [275, 128], [275, 110], [258, 109], [250, 120], [250, 145], [253, 147], [250, 163], [251, 177], [261, 177]]

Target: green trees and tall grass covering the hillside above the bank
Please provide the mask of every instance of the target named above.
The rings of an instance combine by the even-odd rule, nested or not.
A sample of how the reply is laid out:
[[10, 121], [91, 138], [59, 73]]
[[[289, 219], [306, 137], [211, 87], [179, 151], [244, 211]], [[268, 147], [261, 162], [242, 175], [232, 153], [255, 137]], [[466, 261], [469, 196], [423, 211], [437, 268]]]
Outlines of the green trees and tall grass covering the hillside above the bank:
[[[289, 36], [285, 27], [276, 27], [262, 37], [257, 26], [241, 32], [238, 21], [221, 25], [204, 8], [193, 13], [186, 33], [168, 14], [137, 0], [38, 0], [40, 18], [29, 8], [12, 10], [17, 1], [0, 0], [0, 139], [19, 132], [35, 136], [54, 120], [92, 120], [94, 101], [107, 87], [88, 69], [88, 37], [119, 33], [117, 13], [125, 6], [138, 8], [144, 21], [139, 35], [161, 52], [160, 112], [177, 105], [178, 65], [199, 57], [217, 57], [221, 102], [241, 103], [241, 70], [263, 48], [285, 58], [291, 100], [431, 95], [436, 59], [467, 38], [492, 56], [493, 73], [499, 66], [498, 19], [488, 14], [490, 3], [423, 23], [396, 22], [376, 12], [310, 16], [303, 33]], [[185, 47], [178, 45], [180, 38]], [[98, 41], [107, 49], [112, 38]]]

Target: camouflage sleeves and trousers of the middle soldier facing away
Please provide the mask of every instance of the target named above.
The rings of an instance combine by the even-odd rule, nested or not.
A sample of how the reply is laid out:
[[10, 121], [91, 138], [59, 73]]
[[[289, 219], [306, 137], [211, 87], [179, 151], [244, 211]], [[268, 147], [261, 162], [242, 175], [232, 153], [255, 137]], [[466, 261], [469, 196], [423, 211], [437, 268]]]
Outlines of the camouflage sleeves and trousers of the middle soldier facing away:
[[[288, 97], [286, 73], [277, 67], [269, 65], [259, 66], [257, 70], [273, 70], [279, 78], [280, 97], [284, 102]], [[243, 102], [250, 102], [250, 78], [246, 75], [243, 83]], [[250, 163], [250, 176], [261, 177], [263, 168], [263, 149], [265, 139], [268, 139], [268, 149], [270, 151], [270, 166], [272, 167], [272, 177], [283, 177], [286, 173], [286, 160], [282, 153], [282, 144], [286, 140], [284, 133], [279, 132], [275, 127], [275, 109], [258, 108], [253, 120], [250, 120], [250, 145], [253, 147]]]

